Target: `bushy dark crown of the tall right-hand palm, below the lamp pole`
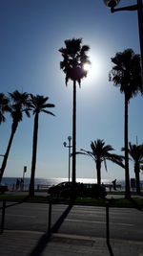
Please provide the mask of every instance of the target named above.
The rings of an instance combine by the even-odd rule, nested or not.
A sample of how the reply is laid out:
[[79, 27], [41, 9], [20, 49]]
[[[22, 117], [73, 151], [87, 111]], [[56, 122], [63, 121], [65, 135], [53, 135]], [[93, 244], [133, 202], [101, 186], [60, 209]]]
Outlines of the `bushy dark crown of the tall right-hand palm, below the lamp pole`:
[[125, 93], [128, 101], [136, 96], [138, 92], [143, 92], [141, 82], [140, 56], [135, 55], [132, 49], [116, 53], [110, 72], [110, 81], [115, 86], [120, 87], [120, 92]]

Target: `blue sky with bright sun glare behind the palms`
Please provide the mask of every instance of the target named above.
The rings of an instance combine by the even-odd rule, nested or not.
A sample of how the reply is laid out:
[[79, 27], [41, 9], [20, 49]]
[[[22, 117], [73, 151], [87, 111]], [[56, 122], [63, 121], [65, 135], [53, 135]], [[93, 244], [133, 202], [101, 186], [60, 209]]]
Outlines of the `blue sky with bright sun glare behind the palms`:
[[[135, 4], [120, 1], [118, 7]], [[65, 85], [58, 49], [65, 39], [82, 38], [90, 46], [92, 68], [77, 86], [77, 151], [91, 149], [91, 141], [104, 139], [114, 153], [123, 153], [124, 95], [109, 81], [111, 58], [132, 48], [139, 54], [137, 13], [111, 13], [102, 0], [0, 0], [0, 86], [1, 92], [19, 90], [49, 97], [55, 117], [39, 118], [36, 177], [68, 177], [68, 143], [72, 135], [72, 81]], [[10, 138], [11, 119], [0, 127], [0, 153]], [[15, 133], [4, 176], [31, 175], [33, 116], [24, 117]], [[129, 105], [129, 141], [142, 143], [142, 98]], [[2, 157], [0, 157], [0, 163]], [[124, 170], [108, 162], [102, 178], [124, 179]], [[77, 155], [76, 176], [96, 178], [92, 158]], [[133, 164], [130, 175], [134, 177]], [[143, 176], [141, 176], [142, 178]], [[142, 178], [143, 179], [143, 178]]]

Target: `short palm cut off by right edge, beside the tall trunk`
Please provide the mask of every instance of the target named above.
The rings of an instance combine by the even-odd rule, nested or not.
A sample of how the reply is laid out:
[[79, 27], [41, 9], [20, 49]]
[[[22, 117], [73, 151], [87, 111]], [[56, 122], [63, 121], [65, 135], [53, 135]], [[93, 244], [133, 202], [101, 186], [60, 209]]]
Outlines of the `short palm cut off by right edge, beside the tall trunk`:
[[132, 145], [129, 143], [129, 154], [132, 157], [134, 163], [134, 173], [136, 181], [136, 192], [140, 194], [140, 178], [139, 173], [143, 164], [143, 144], [141, 145]]

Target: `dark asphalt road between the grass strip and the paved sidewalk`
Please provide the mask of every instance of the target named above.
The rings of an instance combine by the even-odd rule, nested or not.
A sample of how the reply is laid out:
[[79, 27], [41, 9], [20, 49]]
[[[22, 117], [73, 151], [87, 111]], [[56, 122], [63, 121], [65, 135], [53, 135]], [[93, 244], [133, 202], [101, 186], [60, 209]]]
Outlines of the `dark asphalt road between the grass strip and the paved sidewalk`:
[[[51, 225], [60, 218], [67, 207], [67, 205], [52, 205]], [[5, 228], [45, 232], [48, 228], [48, 215], [49, 204], [16, 204], [6, 209]], [[137, 209], [110, 208], [111, 238], [143, 242], [142, 220], [143, 212]], [[72, 206], [58, 232], [105, 238], [105, 207]]]

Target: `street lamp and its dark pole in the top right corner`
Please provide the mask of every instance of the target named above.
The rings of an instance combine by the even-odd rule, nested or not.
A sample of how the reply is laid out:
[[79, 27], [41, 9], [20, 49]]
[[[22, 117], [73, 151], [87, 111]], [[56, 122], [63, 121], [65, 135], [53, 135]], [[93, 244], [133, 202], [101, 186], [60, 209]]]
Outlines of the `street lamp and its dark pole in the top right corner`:
[[143, 2], [142, 0], [136, 0], [136, 5], [114, 9], [114, 7], [118, 5], [120, 0], [103, 0], [103, 1], [107, 7], [111, 8], [111, 12], [137, 11], [140, 55], [141, 55], [141, 77], [142, 77], [142, 87], [143, 87]]

